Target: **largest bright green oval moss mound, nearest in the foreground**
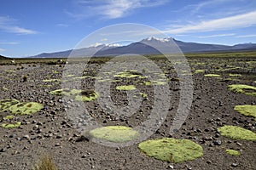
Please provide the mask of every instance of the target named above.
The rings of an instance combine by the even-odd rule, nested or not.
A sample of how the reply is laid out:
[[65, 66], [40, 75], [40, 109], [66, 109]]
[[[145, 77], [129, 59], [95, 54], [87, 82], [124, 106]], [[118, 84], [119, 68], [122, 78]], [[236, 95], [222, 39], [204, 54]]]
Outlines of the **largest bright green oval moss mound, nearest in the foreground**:
[[138, 148], [148, 156], [161, 161], [179, 163], [192, 161], [203, 156], [201, 145], [188, 139], [155, 139], [147, 140], [138, 145]]

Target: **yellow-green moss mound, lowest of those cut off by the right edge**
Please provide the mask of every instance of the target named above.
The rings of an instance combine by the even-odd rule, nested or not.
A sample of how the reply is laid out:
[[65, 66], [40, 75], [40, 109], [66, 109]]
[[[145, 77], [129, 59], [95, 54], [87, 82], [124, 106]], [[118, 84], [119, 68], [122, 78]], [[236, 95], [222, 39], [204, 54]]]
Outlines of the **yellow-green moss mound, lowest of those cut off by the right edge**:
[[241, 127], [225, 125], [218, 127], [218, 132], [230, 139], [256, 140], [256, 133]]

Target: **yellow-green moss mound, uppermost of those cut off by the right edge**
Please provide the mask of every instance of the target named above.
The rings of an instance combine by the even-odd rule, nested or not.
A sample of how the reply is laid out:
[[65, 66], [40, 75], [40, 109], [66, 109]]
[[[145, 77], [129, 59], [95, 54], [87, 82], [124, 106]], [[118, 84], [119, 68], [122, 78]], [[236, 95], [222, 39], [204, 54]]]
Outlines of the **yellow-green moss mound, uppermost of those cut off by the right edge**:
[[239, 94], [256, 96], [256, 87], [253, 86], [248, 86], [245, 84], [231, 84], [229, 85], [229, 89]]

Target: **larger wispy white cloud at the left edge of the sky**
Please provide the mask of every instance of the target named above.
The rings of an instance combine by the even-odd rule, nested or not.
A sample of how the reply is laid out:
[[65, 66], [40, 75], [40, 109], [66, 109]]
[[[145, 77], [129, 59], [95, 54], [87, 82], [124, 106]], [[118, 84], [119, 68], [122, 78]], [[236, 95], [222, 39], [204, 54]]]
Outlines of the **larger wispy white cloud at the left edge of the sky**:
[[0, 30], [12, 32], [16, 34], [37, 34], [37, 31], [32, 31], [20, 26], [15, 26], [14, 20], [9, 17], [0, 16]]

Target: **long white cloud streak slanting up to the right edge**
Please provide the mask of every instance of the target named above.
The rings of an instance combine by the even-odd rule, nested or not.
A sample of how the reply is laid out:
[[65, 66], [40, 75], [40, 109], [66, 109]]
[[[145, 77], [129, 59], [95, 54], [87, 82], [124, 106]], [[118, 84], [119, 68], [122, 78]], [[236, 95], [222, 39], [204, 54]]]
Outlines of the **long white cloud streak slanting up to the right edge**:
[[180, 26], [179, 28], [164, 31], [170, 34], [180, 34], [184, 32], [206, 32], [230, 30], [256, 25], [256, 11], [247, 14], [238, 14], [217, 20], [206, 20], [194, 25]]

